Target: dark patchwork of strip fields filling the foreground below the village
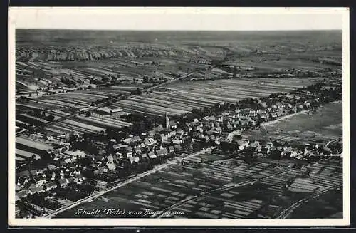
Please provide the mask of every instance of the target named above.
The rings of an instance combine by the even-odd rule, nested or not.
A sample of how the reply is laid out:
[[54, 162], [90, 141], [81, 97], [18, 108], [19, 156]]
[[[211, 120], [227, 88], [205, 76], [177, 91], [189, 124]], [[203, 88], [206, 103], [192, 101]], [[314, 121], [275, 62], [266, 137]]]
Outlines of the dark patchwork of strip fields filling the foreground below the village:
[[[288, 167], [288, 160], [261, 160], [248, 164], [239, 158], [206, 153], [184, 161], [184, 165], [170, 165], [61, 212], [56, 218], [83, 217], [75, 214], [78, 209], [101, 210], [101, 214], [84, 217], [158, 217], [145, 215], [145, 209], [169, 209], [180, 214], [163, 217], [274, 218], [286, 207], [310, 195], [305, 190], [286, 189], [287, 182], [296, 182], [303, 174], [300, 169]], [[318, 163], [310, 165], [315, 175], [305, 178], [309, 184], [305, 187], [307, 191], [315, 189], [318, 192], [342, 183], [341, 169], [327, 168], [328, 165]], [[125, 209], [126, 213], [103, 213], [107, 208]]]

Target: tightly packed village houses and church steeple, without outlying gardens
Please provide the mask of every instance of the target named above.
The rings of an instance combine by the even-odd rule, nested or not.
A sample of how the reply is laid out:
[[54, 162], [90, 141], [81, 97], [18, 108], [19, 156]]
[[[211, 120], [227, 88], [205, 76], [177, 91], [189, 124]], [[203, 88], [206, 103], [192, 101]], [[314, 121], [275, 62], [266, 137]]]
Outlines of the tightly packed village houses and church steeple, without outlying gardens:
[[[308, 160], [315, 156], [341, 155], [340, 143], [338, 146], [335, 143], [292, 146], [283, 141], [266, 142], [244, 137], [245, 130], [258, 129], [264, 122], [316, 108], [325, 100], [325, 97], [318, 93], [319, 90], [298, 90], [293, 95], [283, 93], [270, 98], [246, 100], [234, 109], [216, 111], [187, 123], [169, 120], [166, 115], [164, 125], [156, 125], [152, 130], [140, 135], [127, 135], [120, 141], [112, 138], [109, 143], [91, 140], [90, 146], [95, 147], [97, 153], [83, 152], [76, 148], [75, 144], [85, 141], [80, 135], [52, 137], [51, 140], [56, 140], [59, 145], [56, 150], [48, 152], [53, 162], [41, 169], [28, 165], [26, 169], [17, 172], [16, 199], [20, 200], [37, 192], [51, 192], [53, 189], [70, 187], [72, 184], [82, 185], [85, 180], [98, 180], [97, 189], [106, 188], [108, 184], [115, 182], [117, 177], [129, 175], [129, 171], [149, 170], [153, 165], [181, 154], [191, 143], [202, 143], [204, 146], [220, 145], [222, 150], [234, 148], [235, 152], [251, 152], [251, 155], [259, 157], [294, 157]], [[108, 113], [111, 113], [112, 110], [109, 111]], [[112, 111], [112, 114], [115, 113]], [[83, 147], [85, 148], [87, 147]]]

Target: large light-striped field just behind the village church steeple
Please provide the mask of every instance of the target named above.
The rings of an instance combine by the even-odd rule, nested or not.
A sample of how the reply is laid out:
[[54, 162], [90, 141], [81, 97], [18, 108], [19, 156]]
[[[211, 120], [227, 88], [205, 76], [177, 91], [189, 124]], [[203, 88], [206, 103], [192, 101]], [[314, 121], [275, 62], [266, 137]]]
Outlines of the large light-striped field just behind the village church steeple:
[[114, 106], [129, 113], [145, 115], [177, 115], [194, 108], [204, 108], [216, 103], [236, 103], [246, 98], [261, 98], [271, 93], [289, 92], [322, 78], [253, 78], [216, 81], [192, 81], [164, 86], [140, 96], [131, 96]]

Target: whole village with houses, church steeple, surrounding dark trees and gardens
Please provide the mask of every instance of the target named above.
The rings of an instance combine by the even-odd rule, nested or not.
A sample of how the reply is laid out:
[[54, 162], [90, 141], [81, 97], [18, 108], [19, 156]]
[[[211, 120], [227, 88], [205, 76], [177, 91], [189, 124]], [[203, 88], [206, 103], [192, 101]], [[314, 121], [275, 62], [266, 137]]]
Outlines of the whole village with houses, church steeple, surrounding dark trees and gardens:
[[[185, 156], [208, 147], [246, 162], [256, 157], [303, 160], [306, 164], [325, 157], [342, 161], [340, 140], [268, 140], [263, 126], [340, 100], [342, 86], [318, 83], [290, 93], [216, 104], [184, 115], [166, 114], [163, 123], [153, 123], [153, 128], [143, 132], [108, 130], [102, 135], [71, 133], [58, 137], [33, 133], [28, 138], [56, 146], [16, 167], [17, 212], [41, 216], [175, 157], [181, 157], [182, 162]], [[120, 116], [120, 110], [105, 108], [92, 114], [117, 117], [115, 112]], [[246, 137], [248, 131], [256, 129], [265, 134], [265, 140]], [[290, 162], [290, 167], [296, 164]]]

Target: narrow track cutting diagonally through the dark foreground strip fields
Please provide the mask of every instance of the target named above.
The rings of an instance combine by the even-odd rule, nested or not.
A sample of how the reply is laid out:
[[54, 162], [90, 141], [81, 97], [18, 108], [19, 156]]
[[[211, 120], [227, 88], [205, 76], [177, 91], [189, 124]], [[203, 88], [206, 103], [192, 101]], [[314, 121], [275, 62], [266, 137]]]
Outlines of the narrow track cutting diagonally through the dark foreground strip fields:
[[[223, 187], [219, 187], [219, 188], [216, 188], [214, 190], [210, 190], [209, 192], [201, 192], [199, 195], [195, 195], [193, 197], [188, 197], [188, 198], [186, 198], [184, 200], [181, 200], [180, 202], [177, 202], [176, 204], [171, 205], [170, 207], [164, 209], [163, 212], [169, 212], [172, 209], [175, 209], [175, 208], [179, 207], [180, 205], [184, 204], [185, 202], [189, 202], [190, 200], [196, 200], [198, 198], [206, 197], [208, 195], [213, 194], [214, 192], [221, 192], [221, 191], [231, 190], [231, 189], [236, 188], [236, 187], [242, 187], [242, 186], [245, 186], [245, 185], [252, 185], [254, 182], [265, 180], [267, 178], [271, 178], [271, 177], [274, 177], [276, 175], [281, 175], [283, 173], [291, 172], [291, 171], [296, 170], [296, 169], [297, 168], [284, 170], [284, 171], [281, 171], [281, 172], [274, 173], [272, 175], [268, 175], [266, 177], [262, 177], [260, 179], [247, 180], [245, 182], [241, 182], [241, 183], [237, 183], [237, 184], [231, 184], [231, 185], [228, 184], [227, 186], [225, 185]], [[162, 216], [163, 215], [159, 216], [158, 218], [161, 218]]]

